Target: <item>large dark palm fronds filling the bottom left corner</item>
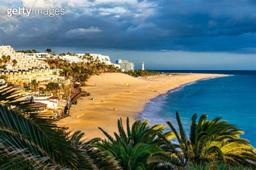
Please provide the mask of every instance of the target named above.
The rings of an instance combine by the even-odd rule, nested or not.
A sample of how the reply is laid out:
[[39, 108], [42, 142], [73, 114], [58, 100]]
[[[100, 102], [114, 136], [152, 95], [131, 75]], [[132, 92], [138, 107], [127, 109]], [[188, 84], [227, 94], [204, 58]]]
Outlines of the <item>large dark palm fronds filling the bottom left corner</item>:
[[94, 147], [99, 139], [66, 133], [22, 97], [15, 88], [0, 90], [0, 169], [120, 169]]

